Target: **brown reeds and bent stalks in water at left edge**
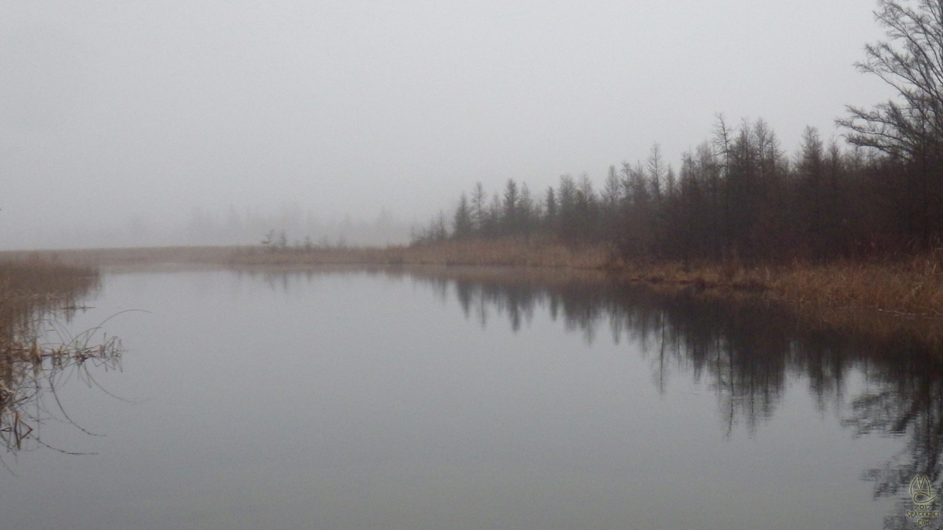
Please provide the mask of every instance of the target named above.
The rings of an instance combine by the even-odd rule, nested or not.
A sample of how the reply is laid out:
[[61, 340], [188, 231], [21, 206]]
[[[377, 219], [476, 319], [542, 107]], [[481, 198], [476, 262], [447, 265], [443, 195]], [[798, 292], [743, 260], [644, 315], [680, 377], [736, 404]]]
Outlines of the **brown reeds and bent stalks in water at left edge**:
[[43, 341], [43, 331], [53, 322], [69, 320], [82, 297], [98, 285], [97, 271], [88, 267], [0, 263], [0, 443], [8, 451], [45, 446], [38, 432], [42, 422], [68, 420], [55, 395], [62, 377], [78, 372], [91, 382], [90, 365], [118, 367], [121, 342], [107, 336], [93, 340], [98, 338], [95, 329]]

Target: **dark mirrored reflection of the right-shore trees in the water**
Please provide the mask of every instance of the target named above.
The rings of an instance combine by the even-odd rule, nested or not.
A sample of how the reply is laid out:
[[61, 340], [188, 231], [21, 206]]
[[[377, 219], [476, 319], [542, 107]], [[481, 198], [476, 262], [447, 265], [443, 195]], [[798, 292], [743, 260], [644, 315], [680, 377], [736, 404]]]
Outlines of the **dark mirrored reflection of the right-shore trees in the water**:
[[[587, 341], [605, 326], [613, 340], [637, 341], [653, 360], [655, 384], [665, 391], [672, 366], [685, 368], [719, 396], [727, 435], [739, 422], [753, 432], [774, 414], [792, 376], [804, 376], [819, 410], [845, 402], [852, 371], [868, 381], [852, 396], [842, 424], [857, 436], [904, 437], [901, 454], [863, 477], [875, 497], [897, 497], [886, 528], [915, 524], [908, 488], [918, 474], [943, 490], [943, 348], [904, 332], [874, 336], [810, 323], [783, 308], [753, 300], [730, 302], [693, 292], [658, 294], [607, 281], [484, 281], [420, 274], [444, 297], [455, 289], [462, 310], [482, 326], [492, 313], [521, 329], [545, 307], [554, 320], [581, 330]], [[935, 508], [938, 509], [938, 508]], [[931, 524], [939, 527], [940, 519]]]

